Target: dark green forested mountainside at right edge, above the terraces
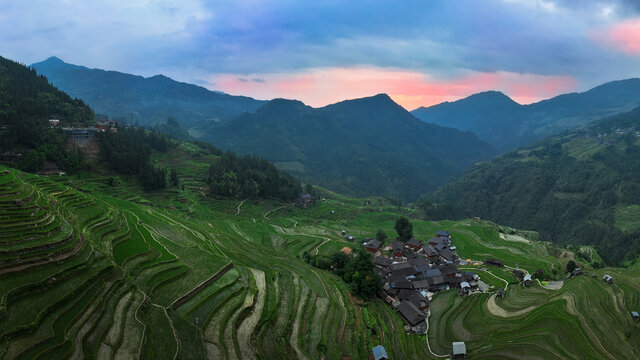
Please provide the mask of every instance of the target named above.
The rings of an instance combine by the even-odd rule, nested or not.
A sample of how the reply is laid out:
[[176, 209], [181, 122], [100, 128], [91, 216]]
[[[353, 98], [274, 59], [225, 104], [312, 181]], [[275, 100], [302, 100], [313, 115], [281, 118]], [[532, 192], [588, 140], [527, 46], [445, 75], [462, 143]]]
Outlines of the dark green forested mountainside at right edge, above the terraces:
[[479, 164], [419, 205], [428, 218], [480, 216], [593, 245], [610, 265], [632, 262], [640, 255], [640, 109]]

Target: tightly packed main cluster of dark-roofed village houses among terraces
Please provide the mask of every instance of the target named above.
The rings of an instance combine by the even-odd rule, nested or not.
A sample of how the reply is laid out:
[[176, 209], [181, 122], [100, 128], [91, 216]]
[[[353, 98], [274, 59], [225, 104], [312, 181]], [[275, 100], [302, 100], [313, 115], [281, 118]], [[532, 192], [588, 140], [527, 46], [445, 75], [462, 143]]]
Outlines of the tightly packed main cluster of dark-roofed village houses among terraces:
[[[459, 288], [460, 294], [466, 295], [478, 285], [478, 275], [456, 266], [460, 258], [448, 231], [438, 231], [427, 243], [411, 238], [382, 248], [378, 240], [371, 239], [362, 245], [375, 255], [373, 262], [384, 283], [380, 295], [400, 313], [409, 332], [426, 329], [433, 293]], [[388, 256], [382, 254], [389, 250]]]

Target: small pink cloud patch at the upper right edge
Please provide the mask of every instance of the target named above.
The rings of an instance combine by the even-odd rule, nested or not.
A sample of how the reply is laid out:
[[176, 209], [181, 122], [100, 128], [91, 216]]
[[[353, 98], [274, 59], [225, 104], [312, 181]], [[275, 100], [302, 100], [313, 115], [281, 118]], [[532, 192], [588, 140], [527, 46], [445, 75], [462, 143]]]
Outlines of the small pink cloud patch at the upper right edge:
[[627, 55], [640, 55], [640, 19], [629, 19], [608, 29], [597, 30], [592, 38], [607, 47], [616, 48]]

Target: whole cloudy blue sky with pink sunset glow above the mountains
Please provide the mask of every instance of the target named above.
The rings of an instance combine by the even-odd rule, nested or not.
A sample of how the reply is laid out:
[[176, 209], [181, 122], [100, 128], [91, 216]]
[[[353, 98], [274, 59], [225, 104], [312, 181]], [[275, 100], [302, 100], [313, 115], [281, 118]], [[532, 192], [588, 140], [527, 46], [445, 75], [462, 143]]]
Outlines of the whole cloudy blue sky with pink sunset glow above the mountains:
[[0, 56], [319, 107], [527, 104], [640, 76], [637, 0], [0, 0]]

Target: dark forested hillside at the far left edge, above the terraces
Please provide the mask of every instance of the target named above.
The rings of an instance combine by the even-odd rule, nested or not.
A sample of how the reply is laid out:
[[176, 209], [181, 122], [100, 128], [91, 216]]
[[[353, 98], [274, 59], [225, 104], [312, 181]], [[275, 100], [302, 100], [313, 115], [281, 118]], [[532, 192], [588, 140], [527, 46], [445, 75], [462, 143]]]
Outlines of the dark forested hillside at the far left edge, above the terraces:
[[52, 117], [60, 120], [58, 127], [86, 125], [94, 113], [35, 70], [0, 57], [0, 150], [21, 154], [12, 166], [30, 172], [40, 170], [44, 161], [69, 172], [82, 167], [83, 153], [49, 126]]

